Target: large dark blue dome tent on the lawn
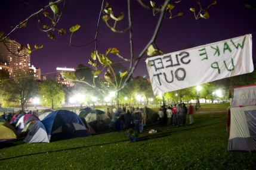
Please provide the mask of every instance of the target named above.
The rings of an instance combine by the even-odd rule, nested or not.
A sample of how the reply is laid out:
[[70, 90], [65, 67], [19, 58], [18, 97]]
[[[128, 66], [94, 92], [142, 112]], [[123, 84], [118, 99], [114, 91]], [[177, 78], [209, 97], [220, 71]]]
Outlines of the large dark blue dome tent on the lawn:
[[45, 126], [50, 141], [90, 136], [81, 118], [71, 111], [51, 112], [41, 122]]

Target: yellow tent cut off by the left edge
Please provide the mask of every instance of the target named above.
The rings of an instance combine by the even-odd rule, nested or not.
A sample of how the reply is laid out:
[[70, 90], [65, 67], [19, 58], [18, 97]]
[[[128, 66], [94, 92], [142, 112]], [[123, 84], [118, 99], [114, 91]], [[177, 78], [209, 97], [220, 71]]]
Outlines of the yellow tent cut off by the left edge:
[[0, 118], [0, 141], [14, 140], [17, 138], [16, 129], [7, 121]]

